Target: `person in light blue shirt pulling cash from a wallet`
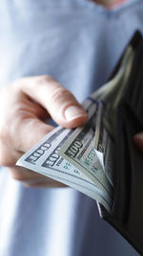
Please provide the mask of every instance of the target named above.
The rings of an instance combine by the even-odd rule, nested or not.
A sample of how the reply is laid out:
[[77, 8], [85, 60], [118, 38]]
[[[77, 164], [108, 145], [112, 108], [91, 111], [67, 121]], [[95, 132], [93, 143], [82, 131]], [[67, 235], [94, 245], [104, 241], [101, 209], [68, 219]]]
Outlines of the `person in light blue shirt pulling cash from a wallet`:
[[[114, 9], [89, 0], [1, 1], [0, 256], [137, 255], [100, 220], [94, 200], [15, 162], [51, 131], [45, 118], [66, 128], [87, 121], [79, 101], [143, 31], [142, 13], [141, 0]], [[142, 133], [135, 140], [143, 148]]]

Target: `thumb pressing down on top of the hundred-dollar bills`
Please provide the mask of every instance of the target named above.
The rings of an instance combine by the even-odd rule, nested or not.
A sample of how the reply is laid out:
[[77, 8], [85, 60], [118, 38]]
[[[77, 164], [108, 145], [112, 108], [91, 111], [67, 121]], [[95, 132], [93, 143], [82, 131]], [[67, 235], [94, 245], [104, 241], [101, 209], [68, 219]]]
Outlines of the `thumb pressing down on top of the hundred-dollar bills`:
[[26, 78], [21, 84], [21, 90], [45, 107], [57, 124], [75, 128], [88, 120], [86, 111], [72, 93], [50, 77]]

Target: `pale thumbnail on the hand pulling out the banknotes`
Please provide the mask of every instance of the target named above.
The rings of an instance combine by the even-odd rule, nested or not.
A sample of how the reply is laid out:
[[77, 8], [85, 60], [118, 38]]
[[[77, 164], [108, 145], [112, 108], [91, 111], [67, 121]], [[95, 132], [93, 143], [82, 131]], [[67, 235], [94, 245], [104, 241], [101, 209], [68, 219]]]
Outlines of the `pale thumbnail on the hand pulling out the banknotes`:
[[88, 117], [86, 111], [77, 105], [69, 106], [65, 111], [65, 117], [68, 121], [76, 119], [78, 117]]

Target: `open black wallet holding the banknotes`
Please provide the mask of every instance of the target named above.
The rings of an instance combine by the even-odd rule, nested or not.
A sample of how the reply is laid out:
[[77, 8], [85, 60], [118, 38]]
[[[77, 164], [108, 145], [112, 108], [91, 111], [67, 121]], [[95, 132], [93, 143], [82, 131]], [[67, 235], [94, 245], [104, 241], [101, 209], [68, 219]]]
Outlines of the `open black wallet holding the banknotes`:
[[[143, 131], [142, 35], [136, 32], [129, 45], [134, 52], [132, 71], [114, 112], [112, 213], [101, 204], [99, 211], [101, 217], [110, 222], [143, 255], [143, 153], [133, 144], [133, 135]], [[117, 73], [122, 58], [110, 80]]]

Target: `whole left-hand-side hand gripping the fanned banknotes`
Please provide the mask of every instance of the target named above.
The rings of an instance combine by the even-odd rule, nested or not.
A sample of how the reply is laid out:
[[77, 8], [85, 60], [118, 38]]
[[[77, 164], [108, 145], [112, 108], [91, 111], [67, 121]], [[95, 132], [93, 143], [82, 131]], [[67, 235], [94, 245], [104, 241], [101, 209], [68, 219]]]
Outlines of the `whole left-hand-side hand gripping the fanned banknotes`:
[[49, 76], [29, 77], [0, 89], [0, 166], [26, 185], [60, 187], [61, 183], [16, 167], [18, 158], [53, 129], [42, 120], [75, 128], [88, 120], [72, 93]]

